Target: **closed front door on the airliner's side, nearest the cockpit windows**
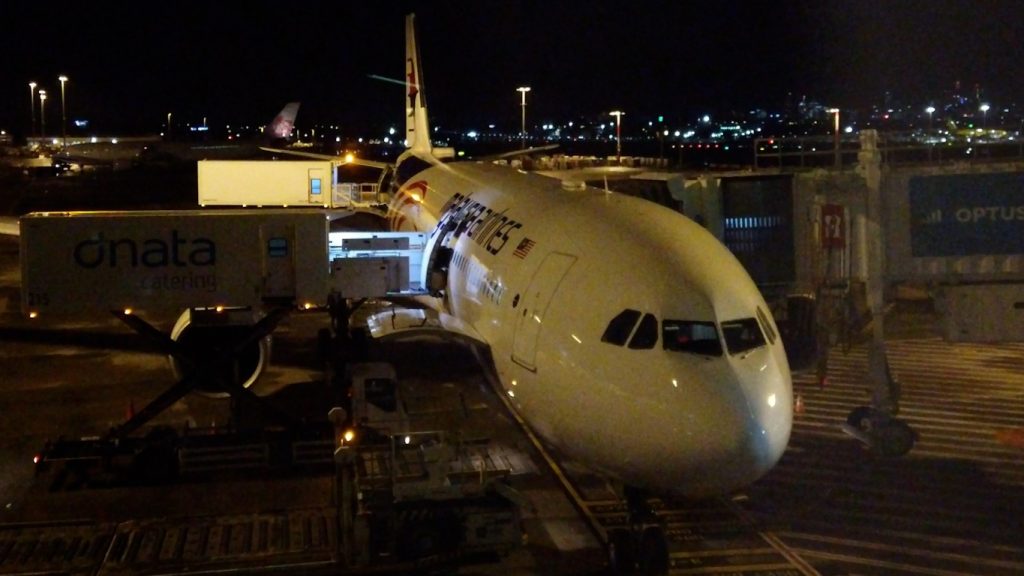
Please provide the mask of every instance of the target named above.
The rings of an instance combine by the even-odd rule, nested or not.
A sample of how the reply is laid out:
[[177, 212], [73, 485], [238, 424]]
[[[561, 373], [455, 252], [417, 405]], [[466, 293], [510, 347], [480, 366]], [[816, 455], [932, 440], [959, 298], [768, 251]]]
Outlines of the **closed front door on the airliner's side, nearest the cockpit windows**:
[[548, 305], [575, 261], [575, 256], [552, 252], [544, 258], [529, 281], [523, 296], [522, 313], [512, 336], [512, 361], [523, 368], [537, 370], [537, 339], [541, 335]]

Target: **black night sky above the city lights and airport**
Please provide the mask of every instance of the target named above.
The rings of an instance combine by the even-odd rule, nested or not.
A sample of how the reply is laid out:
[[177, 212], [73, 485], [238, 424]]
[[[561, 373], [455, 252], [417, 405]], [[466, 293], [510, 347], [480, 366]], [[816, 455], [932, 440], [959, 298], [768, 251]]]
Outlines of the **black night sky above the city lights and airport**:
[[[401, 120], [402, 16], [417, 13], [433, 124], [664, 114], [689, 120], [803, 95], [863, 108], [889, 91], [938, 101], [957, 80], [993, 107], [1024, 104], [1019, 0], [567, 2], [63, 2], [0, 5], [0, 128], [24, 133], [29, 81], [46, 87], [47, 128], [156, 132], [175, 122], [267, 122], [378, 130]], [[38, 98], [36, 100], [38, 115]]]

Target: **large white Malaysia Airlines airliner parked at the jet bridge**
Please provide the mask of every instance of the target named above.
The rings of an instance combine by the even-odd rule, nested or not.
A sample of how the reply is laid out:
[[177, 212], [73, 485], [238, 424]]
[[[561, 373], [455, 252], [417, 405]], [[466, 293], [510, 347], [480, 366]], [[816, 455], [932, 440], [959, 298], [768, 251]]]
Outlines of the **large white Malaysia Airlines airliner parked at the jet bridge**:
[[[645, 495], [723, 495], [765, 475], [788, 442], [793, 385], [778, 327], [739, 261], [654, 203], [452, 161], [431, 145], [414, 19], [409, 149], [390, 174], [387, 221], [429, 233], [432, 312], [372, 317], [371, 335], [450, 330], [478, 344], [528, 428], [621, 483], [640, 523], [653, 518]], [[653, 536], [609, 534], [609, 547], [667, 567], [664, 531], [647, 528]]]

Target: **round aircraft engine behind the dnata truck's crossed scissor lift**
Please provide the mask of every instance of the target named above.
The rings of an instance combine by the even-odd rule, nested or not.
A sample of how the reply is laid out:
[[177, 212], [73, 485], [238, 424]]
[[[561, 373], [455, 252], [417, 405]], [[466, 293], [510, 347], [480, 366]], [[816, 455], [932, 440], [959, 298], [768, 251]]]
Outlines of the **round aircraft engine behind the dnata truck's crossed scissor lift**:
[[[270, 336], [248, 344], [238, 355], [238, 362], [222, 362], [231, 348], [259, 320], [260, 315], [249, 308], [190, 308], [181, 313], [171, 330], [171, 339], [189, 351], [200, 363], [196, 376], [197, 390], [214, 398], [226, 397], [224, 384], [236, 377], [245, 387], [251, 386], [270, 363]], [[174, 377], [181, 380], [194, 369], [173, 356], [167, 357]]]

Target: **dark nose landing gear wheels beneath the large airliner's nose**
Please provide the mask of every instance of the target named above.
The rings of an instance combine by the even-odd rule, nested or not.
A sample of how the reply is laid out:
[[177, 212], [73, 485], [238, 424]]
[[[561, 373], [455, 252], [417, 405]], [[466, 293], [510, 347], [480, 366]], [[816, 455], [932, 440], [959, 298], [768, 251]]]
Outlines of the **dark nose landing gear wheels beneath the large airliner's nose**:
[[626, 487], [624, 493], [628, 528], [612, 528], [607, 534], [611, 574], [668, 574], [669, 541], [665, 527], [642, 491]]

